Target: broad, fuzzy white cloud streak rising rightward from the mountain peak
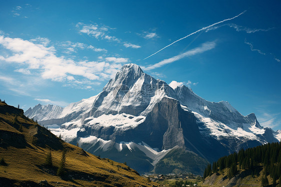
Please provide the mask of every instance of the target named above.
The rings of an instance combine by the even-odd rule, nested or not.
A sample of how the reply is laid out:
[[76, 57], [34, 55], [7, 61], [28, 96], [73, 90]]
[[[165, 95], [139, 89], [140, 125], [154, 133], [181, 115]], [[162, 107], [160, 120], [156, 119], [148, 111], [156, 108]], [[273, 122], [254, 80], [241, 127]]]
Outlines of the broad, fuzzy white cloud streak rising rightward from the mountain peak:
[[176, 60], [179, 60], [181, 58], [202, 53], [202, 52], [210, 50], [210, 49], [212, 49], [214, 47], [215, 47], [215, 42], [214, 41], [212, 41], [212, 42], [205, 42], [205, 43], [203, 43], [199, 47], [187, 50], [184, 53], [178, 54], [178, 55], [173, 56], [171, 58], [163, 59], [163, 60], [159, 61], [158, 63], [155, 63], [153, 65], [148, 65], [146, 67], [141, 67], [141, 68], [143, 68], [144, 70], [151, 70], [151, 69], [154, 69], [154, 68], [158, 68], [158, 67], [161, 67], [161, 66], [163, 66], [165, 64], [172, 63], [172, 62], [174, 62]]

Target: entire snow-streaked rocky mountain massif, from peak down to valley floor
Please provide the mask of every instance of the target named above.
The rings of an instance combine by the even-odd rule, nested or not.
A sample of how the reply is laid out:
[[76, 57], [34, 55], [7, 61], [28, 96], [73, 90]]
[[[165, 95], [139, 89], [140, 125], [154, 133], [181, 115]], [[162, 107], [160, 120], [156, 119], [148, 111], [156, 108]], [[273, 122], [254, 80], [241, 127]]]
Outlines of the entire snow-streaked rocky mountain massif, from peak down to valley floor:
[[173, 89], [133, 63], [95, 96], [64, 108], [38, 104], [24, 114], [51, 125], [65, 141], [141, 173], [202, 174], [208, 162], [281, 137], [254, 113], [243, 116], [227, 101], [207, 101], [185, 85]]

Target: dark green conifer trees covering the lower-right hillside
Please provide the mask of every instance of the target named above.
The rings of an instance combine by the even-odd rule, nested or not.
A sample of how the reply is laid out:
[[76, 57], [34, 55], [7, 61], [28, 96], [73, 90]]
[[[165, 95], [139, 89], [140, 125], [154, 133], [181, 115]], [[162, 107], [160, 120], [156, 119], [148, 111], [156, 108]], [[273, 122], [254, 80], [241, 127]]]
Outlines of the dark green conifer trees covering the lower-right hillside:
[[[272, 178], [272, 184], [276, 185], [276, 180], [281, 181], [281, 142], [267, 143], [253, 148], [241, 149], [228, 156], [223, 156], [212, 164], [208, 164], [204, 170], [203, 178], [213, 173], [222, 173], [228, 168], [227, 177], [230, 179], [238, 170], [247, 170], [251, 175], [259, 175], [263, 168], [261, 183], [268, 185], [267, 176]], [[281, 186], [279, 184], [279, 186]]]

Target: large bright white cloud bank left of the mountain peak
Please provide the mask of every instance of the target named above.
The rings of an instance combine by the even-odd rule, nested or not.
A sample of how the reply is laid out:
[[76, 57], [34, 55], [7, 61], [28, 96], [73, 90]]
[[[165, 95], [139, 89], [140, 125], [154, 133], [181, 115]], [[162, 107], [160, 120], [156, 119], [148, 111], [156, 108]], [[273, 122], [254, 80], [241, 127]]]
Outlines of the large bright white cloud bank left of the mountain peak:
[[[109, 77], [115, 73], [121, 66], [122, 62], [127, 62], [128, 58], [108, 57], [105, 62], [93, 61], [74, 61], [64, 56], [56, 56], [53, 46], [47, 47], [43, 44], [36, 44], [21, 38], [4, 37], [0, 35], [0, 47], [11, 51], [9, 55], [0, 54], [0, 60], [14, 62], [19, 65], [16, 71], [25, 74], [37, 73], [43, 79], [54, 81], [70, 80], [67, 77], [76, 79], [99, 80]], [[82, 47], [82, 45], [77, 44]], [[24, 69], [22, 68], [24, 66]], [[27, 66], [27, 67], [26, 67]], [[73, 78], [72, 78], [73, 81]]]

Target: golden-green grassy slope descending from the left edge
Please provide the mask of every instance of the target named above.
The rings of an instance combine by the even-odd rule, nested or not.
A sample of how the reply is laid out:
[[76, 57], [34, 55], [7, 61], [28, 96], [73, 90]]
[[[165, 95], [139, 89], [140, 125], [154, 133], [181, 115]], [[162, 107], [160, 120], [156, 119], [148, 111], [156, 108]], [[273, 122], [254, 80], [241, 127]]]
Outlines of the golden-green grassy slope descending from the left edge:
[[[65, 174], [57, 176], [62, 150]], [[52, 166], [46, 166], [51, 152]], [[46, 181], [42, 181], [46, 180]], [[153, 186], [128, 166], [66, 143], [0, 102], [0, 186]]]

